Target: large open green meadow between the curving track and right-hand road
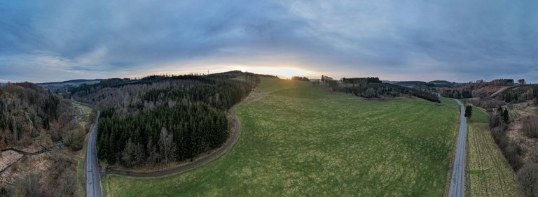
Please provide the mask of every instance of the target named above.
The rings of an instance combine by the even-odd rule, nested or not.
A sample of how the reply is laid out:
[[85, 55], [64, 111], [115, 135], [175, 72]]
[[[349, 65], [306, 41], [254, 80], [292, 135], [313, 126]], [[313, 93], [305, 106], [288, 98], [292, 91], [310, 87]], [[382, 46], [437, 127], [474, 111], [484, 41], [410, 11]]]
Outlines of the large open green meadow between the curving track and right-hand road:
[[460, 124], [455, 101], [367, 100], [265, 78], [257, 91], [276, 92], [237, 109], [240, 140], [219, 159], [165, 177], [106, 175], [106, 195], [446, 194]]

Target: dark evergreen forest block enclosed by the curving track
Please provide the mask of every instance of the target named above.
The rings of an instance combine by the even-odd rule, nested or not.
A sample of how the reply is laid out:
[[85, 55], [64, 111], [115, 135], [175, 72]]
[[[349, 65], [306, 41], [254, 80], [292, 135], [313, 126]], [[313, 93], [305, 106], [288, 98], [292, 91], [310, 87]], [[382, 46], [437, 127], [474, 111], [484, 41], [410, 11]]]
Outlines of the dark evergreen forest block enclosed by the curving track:
[[86, 86], [73, 96], [102, 109], [99, 159], [132, 167], [184, 161], [219, 147], [228, 138], [226, 110], [251, 89], [221, 77], [154, 75]]

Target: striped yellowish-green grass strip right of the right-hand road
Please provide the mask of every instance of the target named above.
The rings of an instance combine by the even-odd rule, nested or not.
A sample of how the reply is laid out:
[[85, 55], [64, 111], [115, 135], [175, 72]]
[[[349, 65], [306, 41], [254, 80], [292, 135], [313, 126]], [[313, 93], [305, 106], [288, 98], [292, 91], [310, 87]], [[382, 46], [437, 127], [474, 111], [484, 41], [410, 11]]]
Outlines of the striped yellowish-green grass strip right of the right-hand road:
[[519, 196], [508, 162], [493, 140], [489, 117], [473, 107], [467, 129], [467, 196]]

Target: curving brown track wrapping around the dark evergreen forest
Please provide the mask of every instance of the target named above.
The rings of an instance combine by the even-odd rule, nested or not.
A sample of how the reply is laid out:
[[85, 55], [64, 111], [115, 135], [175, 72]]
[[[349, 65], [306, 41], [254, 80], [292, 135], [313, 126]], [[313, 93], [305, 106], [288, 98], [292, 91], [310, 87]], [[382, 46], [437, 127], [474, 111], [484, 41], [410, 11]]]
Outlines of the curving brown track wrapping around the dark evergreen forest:
[[164, 175], [170, 175], [173, 173], [183, 172], [185, 170], [190, 170], [192, 168], [198, 167], [204, 163], [207, 163], [208, 161], [211, 161], [212, 159], [215, 159], [221, 156], [223, 152], [226, 152], [226, 150], [232, 147], [235, 144], [235, 142], [237, 142], [237, 139], [239, 139], [239, 136], [241, 134], [241, 124], [239, 122], [239, 119], [237, 119], [237, 116], [235, 115], [235, 109], [238, 106], [242, 105], [242, 103], [245, 103], [246, 101], [250, 101], [250, 99], [244, 99], [244, 101], [233, 106], [233, 108], [230, 110], [230, 117], [232, 117], [233, 121], [235, 122], [235, 132], [233, 132], [232, 137], [229, 138], [221, 148], [217, 149], [216, 152], [212, 152], [211, 154], [208, 154], [186, 165], [178, 166], [176, 168], [170, 168], [167, 170], [153, 171], [149, 173], [137, 173], [137, 172], [132, 172], [128, 170], [106, 169], [106, 173], [124, 175], [124, 176], [129, 176], [129, 177], [160, 177]]

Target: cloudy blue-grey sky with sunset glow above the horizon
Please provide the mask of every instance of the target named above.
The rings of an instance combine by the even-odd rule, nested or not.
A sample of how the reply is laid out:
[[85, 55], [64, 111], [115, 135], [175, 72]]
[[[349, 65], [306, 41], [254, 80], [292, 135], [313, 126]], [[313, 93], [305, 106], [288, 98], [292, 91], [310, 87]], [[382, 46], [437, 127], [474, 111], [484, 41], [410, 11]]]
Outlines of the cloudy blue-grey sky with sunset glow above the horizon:
[[230, 70], [538, 82], [538, 1], [0, 1], [0, 82]]

